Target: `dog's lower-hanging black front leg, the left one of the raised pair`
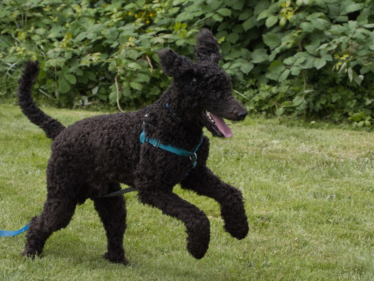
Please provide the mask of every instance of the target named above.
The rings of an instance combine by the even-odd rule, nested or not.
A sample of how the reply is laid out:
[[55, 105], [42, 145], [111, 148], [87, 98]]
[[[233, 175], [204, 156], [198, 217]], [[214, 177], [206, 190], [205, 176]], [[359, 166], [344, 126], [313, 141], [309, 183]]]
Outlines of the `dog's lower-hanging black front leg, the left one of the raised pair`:
[[142, 203], [183, 221], [188, 233], [187, 250], [196, 259], [201, 259], [205, 255], [210, 241], [210, 223], [203, 211], [181, 199], [171, 190], [159, 190], [156, 186], [143, 186], [138, 190], [138, 196]]

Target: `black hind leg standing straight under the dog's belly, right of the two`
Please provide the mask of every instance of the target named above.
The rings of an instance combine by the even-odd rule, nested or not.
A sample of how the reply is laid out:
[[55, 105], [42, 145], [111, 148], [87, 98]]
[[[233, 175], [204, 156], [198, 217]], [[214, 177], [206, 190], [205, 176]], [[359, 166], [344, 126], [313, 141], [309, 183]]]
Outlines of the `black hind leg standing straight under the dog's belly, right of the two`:
[[[121, 189], [120, 184], [111, 183], [108, 192], [112, 193]], [[128, 264], [123, 249], [123, 234], [126, 230], [126, 200], [122, 195], [114, 197], [96, 197], [93, 205], [99, 213], [107, 235], [107, 253], [104, 258], [114, 263]]]

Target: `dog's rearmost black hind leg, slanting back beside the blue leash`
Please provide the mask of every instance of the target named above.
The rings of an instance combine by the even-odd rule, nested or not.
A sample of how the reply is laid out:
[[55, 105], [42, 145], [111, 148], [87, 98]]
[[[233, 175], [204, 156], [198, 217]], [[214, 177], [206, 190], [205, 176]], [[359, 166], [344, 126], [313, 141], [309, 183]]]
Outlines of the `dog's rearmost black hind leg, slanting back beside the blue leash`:
[[65, 228], [74, 215], [77, 202], [67, 194], [49, 189], [43, 211], [34, 217], [26, 234], [24, 256], [40, 256], [48, 237], [55, 231]]

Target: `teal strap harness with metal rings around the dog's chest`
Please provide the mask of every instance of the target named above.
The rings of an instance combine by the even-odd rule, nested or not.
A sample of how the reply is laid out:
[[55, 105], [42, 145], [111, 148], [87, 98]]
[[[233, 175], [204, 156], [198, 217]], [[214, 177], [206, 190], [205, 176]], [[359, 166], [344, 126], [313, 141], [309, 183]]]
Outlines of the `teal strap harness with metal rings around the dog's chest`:
[[[172, 153], [177, 154], [179, 156], [190, 157], [190, 160], [191, 160], [190, 170], [192, 170], [192, 169], [194, 169], [196, 167], [196, 165], [197, 165], [197, 155], [196, 155], [196, 152], [197, 152], [197, 150], [199, 149], [200, 145], [203, 142], [204, 133], [202, 133], [200, 143], [198, 145], [196, 145], [192, 149], [192, 151], [187, 151], [187, 150], [184, 150], [183, 148], [178, 148], [178, 147], [172, 146], [170, 144], [163, 144], [160, 141], [160, 139], [157, 139], [157, 138], [154, 139], [154, 138], [150, 138], [150, 137], [146, 136], [144, 128], [145, 128], [145, 122], [143, 122], [143, 131], [140, 134], [140, 138], [139, 138], [141, 144], [143, 144], [145, 142], [148, 142], [151, 145], [153, 145], [154, 147], [158, 147], [158, 148], [164, 149], [166, 151], [172, 152]], [[186, 176], [187, 175], [188, 175], [188, 173], [186, 173]]]

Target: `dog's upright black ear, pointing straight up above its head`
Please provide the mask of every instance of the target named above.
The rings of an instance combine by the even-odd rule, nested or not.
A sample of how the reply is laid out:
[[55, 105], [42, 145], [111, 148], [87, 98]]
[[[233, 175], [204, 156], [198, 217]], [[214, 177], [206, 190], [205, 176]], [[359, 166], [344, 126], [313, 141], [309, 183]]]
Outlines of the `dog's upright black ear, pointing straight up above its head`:
[[217, 38], [213, 36], [209, 29], [200, 29], [200, 33], [196, 36], [195, 58], [196, 60], [209, 60], [215, 63], [218, 63], [221, 59]]

